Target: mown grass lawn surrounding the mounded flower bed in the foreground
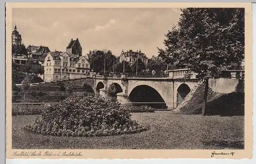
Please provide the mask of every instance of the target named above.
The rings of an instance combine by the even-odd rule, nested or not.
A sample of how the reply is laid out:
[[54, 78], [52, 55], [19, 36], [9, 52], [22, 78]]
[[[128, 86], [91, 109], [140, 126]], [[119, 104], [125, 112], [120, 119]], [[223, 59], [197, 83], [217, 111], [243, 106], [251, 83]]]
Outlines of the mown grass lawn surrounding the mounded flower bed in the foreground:
[[12, 116], [13, 149], [244, 149], [244, 116], [132, 113], [150, 130], [104, 137], [44, 136], [22, 130], [39, 117]]

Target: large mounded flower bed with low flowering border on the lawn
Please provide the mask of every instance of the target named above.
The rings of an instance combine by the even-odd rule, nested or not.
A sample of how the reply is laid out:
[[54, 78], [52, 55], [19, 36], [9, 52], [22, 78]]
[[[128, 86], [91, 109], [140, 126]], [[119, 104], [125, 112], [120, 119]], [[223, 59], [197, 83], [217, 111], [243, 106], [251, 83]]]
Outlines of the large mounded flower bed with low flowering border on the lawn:
[[69, 97], [42, 110], [42, 117], [25, 130], [55, 136], [106, 136], [147, 130], [131, 120], [129, 110], [115, 99]]

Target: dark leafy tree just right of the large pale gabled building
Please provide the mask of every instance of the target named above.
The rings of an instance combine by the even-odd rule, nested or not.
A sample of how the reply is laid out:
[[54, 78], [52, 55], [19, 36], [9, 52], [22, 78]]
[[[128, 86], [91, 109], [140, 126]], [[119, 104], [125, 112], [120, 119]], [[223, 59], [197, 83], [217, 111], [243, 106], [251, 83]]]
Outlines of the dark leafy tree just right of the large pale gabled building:
[[105, 62], [105, 71], [112, 71], [114, 61], [117, 61], [117, 59], [111, 51], [96, 51], [96, 53], [93, 55], [91, 68], [93, 68], [96, 73], [104, 71]]

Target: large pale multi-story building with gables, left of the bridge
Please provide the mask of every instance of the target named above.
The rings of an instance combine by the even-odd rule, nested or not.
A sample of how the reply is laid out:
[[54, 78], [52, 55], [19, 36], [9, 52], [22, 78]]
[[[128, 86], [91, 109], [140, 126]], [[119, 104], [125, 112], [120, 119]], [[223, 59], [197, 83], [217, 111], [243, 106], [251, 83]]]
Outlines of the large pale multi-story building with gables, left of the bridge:
[[90, 63], [84, 56], [67, 52], [49, 52], [44, 62], [45, 82], [69, 80], [90, 74]]

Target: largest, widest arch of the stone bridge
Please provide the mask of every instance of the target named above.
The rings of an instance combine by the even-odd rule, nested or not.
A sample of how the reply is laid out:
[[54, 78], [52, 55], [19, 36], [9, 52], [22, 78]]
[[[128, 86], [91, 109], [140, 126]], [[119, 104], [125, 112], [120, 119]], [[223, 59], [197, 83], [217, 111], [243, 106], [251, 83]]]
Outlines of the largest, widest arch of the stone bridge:
[[[161, 90], [156, 87], [156, 83], [148, 84], [137, 82], [129, 89], [128, 99], [134, 105], [145, 104], [155, 108], [166, 108], [166, 101]], [[140, 104], [139, 102], [143, 102]], [[148, 103], [147, 103], [148, 102]]]

